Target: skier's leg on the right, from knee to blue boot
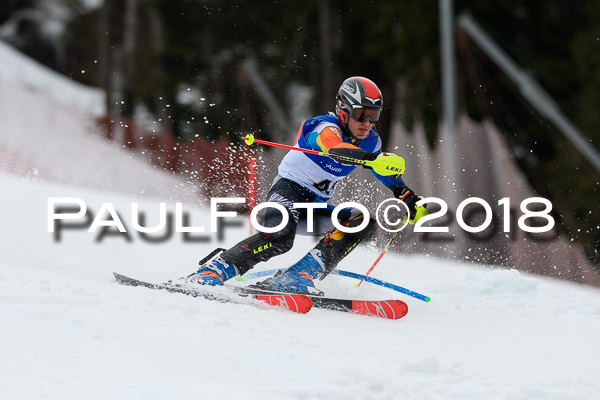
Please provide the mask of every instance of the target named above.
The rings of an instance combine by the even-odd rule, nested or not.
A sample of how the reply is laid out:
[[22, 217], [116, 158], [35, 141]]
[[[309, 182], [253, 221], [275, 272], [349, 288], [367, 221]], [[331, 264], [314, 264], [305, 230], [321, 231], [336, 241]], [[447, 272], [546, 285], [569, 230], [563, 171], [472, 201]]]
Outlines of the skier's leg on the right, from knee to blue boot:
[[[353, 210], [350, 219], [341, 224], [352, 228], [361, 225], [363, 221], [364, 215]], [[371, 218], [365, 228], [355, 233], [332, 229], [300, 261], [264, 284], [274, 290], [318, 293], [312, 280], [323, 279], [333, 271], [360, 241], [373, 232], [375, 224], [375, 220]]]

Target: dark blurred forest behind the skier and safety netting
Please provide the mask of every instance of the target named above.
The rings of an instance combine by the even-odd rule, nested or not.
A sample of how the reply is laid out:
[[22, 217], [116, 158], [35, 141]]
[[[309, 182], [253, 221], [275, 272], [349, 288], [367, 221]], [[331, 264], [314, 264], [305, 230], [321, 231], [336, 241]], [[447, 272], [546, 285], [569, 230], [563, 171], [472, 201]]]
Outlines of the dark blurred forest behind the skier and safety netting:
[[[600, 143], [600, 2], [453, 2]], [[455, 28], [459, 112], [491, 121], [564, 233], [600, 265], [598, 172]], [[407, 129], [440, 144], [439, 2], [5, 0], [0, 39], [87, 85], [102, 87], [111, 118], [156, 123], [179, 140], [289, 142], [298, 123], [332, 111], [339, 84], [364, 75]], [[258, 74], [271, 96], [258, 95]], [[392, 113], [378, 126], [384, 142]]]

